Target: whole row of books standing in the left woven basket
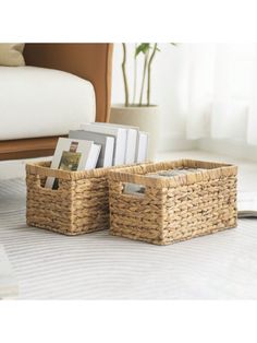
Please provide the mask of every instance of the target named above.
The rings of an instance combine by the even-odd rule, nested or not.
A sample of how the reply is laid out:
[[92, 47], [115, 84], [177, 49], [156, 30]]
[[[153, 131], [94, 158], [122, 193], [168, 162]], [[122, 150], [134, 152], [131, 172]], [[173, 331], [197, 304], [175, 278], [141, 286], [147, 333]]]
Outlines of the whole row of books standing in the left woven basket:
[[[147, 159], [148, 133], [137, 127], [91, 122], [71, 130], [69, 138], [60, 138], [51, 168], [86, 170]], [[54, 178], [48, 177], [46, 187], [54, 188]]]

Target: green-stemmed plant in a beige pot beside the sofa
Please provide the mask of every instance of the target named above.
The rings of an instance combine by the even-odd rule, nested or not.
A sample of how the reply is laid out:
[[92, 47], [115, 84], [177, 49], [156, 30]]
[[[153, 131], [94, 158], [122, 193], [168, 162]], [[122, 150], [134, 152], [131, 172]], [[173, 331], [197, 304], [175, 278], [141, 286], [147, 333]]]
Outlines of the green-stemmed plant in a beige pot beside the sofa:
[[[132, 97], [126, 71], [127, 47], [125, 43], [122, 44], [122, 49], [123, 60], [121, 68], [124, 85], [124, 104], [111, 107], [110, 122], [139, 127], [142, 131], [148, 132], [148, 158], [151, 159], [155, 157], [160, 132], [159, 106], [151, 104], [151, 69], [159, 47], [157, 43], [140, 43], [135, 45]], [[144, 66], [140, 75], [140, 87], [137, 90], [137, 58], [140, 55], [144, 57]], [[146, 103], [143, 102], [144, 97], [146, 98]]]

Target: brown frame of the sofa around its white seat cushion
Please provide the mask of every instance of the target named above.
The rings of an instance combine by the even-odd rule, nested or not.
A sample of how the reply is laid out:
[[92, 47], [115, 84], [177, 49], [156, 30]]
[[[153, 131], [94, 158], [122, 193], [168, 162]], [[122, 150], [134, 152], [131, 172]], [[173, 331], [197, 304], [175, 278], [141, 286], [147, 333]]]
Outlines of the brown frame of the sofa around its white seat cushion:
[[[24, 58], [26, 66], [61, 70], [88, 80], [95, 90], [96, 121], [108, 121], [112, 50], [112, 44], [26, 44]], [[15, 140], [0, 138], [0, 161], [50, 156], [57, 139], [58, 137], [24, 137]]]

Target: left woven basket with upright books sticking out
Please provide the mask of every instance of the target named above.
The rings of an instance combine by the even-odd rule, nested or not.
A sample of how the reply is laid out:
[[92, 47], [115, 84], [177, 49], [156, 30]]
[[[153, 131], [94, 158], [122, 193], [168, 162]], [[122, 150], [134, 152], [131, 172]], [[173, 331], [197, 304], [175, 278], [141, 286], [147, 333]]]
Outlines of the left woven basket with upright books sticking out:
[[[50, 162], [26, 165], [27, 224], [65, 235], [109, 228], [107, 175], [110, 168], [64, 172]], [[59, 188], [44, 188], [47, 177], [59, 179]]]

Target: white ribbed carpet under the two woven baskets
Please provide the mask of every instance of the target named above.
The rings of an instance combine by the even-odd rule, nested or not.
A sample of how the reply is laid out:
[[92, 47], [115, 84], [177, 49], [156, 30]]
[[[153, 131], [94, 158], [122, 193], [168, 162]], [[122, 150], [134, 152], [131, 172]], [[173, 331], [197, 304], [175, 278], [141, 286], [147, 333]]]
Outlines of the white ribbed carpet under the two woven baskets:
[[25, 186], [0, 181], [0, 241], [21, 299], [257, 299], [257, 220], [167, 247], [25, 224]]

